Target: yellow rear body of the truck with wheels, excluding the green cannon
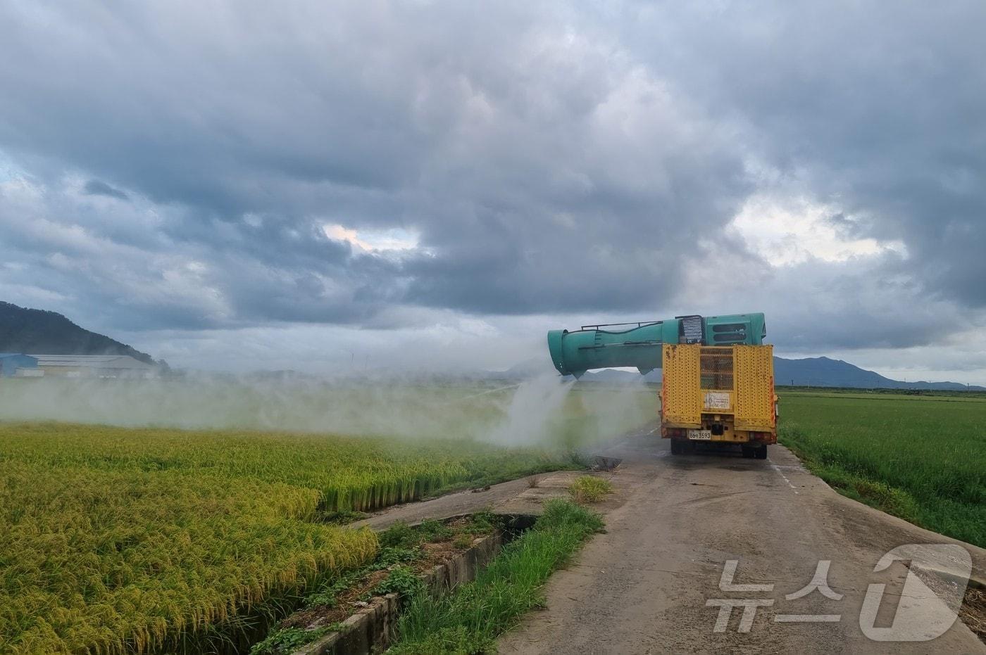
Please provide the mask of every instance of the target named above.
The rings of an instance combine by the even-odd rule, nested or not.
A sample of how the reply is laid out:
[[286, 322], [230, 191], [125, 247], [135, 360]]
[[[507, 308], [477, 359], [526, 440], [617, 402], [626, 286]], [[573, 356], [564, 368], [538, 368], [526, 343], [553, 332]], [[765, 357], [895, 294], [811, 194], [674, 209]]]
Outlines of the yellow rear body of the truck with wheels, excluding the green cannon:
[[774, 348], [663, 345], [661, 436], [671, 453], [696, 443], [736, 444], [743, 457], [767, 458], [777, 443]]

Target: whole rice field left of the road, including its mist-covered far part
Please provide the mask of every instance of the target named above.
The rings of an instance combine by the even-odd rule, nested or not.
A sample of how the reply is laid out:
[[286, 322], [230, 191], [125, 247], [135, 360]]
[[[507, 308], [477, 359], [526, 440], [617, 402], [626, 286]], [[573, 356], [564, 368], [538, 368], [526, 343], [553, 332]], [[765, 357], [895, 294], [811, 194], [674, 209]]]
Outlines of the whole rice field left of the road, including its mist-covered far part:
[[656, 413], [646, 385], [556, 377], [24, 382], [0, 393], [0, 652], [18, 654], [246, 652], [376, 556], [347, 512], [571, 468]]

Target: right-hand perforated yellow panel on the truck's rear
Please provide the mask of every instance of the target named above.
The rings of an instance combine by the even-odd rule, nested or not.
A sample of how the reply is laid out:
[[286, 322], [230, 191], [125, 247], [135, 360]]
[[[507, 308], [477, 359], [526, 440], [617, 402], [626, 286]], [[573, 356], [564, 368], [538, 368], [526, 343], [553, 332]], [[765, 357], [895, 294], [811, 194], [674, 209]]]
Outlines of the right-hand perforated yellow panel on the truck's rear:
[[774, 426], [774, 347], [734, 346], [737, 429]]

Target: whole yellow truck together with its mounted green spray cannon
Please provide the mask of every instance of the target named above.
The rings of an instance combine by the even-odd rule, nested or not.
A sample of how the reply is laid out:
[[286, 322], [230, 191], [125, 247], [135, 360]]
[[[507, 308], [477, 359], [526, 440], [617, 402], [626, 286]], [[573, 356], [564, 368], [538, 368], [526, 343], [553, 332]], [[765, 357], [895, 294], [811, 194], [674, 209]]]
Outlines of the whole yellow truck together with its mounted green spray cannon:
[[562, 375], [632, 366], [663, 369], [661, 435], [675, 455], [696, 442], [740, 445], [766, 459], [777, 443], [774, 348], [763, 343], [762, 313], [583, 325], [548, 332], [548, 352]]

